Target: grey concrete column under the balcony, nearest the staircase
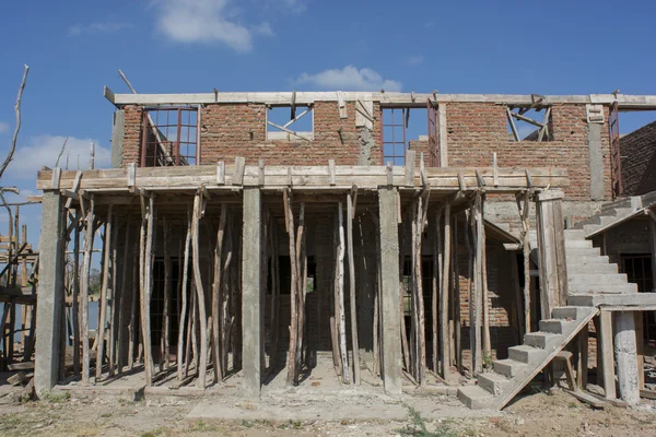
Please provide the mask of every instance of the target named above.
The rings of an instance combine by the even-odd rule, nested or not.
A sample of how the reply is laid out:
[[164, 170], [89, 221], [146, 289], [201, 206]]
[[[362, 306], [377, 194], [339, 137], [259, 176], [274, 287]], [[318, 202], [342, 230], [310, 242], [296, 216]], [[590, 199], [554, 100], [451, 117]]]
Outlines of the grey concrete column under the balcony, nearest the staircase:
[[380, 216], [383, 385], [388, 394], [401, 394], [401, 312], [399, 308], [399, 228], [396, 188], [378, 189]]

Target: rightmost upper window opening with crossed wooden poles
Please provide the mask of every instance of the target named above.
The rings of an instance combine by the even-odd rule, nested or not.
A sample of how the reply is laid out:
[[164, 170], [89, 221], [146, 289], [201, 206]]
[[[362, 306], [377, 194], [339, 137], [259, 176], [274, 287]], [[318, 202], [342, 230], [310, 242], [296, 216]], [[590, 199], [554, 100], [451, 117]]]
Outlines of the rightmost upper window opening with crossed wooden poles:
[[532, 105], [506, 107], [508, 139], [511, 141], [553, 141], [551, 106]]

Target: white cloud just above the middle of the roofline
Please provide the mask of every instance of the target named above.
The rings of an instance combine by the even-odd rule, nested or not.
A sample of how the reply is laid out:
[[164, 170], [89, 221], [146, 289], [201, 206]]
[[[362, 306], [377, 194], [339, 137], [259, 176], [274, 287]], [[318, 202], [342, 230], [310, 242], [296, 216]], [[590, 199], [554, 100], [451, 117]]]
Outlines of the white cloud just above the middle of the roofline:
[[316, 74], [303, 73], [297, 84], [312, 85], [324, 90], [342, 91], [401, 91], [401, 82], [383, 79], [376, 71], [347, 66], [343, 69], [324, 70]]

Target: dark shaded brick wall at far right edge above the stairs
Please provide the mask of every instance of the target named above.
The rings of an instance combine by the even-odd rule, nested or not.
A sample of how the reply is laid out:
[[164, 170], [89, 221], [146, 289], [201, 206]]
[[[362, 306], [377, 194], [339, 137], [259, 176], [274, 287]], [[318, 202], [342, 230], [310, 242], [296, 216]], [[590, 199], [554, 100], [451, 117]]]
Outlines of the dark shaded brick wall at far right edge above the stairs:
[[640, 196], [656, 190], [656, 121], [620, 139], [624, 193]]

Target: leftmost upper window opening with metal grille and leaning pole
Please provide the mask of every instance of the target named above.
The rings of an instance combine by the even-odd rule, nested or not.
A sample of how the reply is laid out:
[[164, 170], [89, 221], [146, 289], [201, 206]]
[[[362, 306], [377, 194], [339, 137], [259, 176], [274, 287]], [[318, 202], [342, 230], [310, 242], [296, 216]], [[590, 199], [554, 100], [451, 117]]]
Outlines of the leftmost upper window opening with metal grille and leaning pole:
[[143, 110], [142, 167], [196, 165], [200, 146], [198, 108], [159, 107]]

